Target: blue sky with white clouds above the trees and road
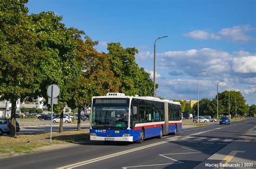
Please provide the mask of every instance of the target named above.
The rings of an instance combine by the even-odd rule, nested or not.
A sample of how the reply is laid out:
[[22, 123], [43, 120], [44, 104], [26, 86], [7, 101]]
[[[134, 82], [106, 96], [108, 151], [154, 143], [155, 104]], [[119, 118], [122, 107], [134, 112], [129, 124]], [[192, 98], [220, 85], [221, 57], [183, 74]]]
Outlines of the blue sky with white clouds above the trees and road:
[[68, 27], [84, 30], [99, 52], [118, 42], [136, 47], [136, 61], [153, 72], [156, 44], [157, 96], [213, 98], [241, 90], [256, 104], [256, 1], [49, 1], [33, 0], [30, 13], [54, 11]]

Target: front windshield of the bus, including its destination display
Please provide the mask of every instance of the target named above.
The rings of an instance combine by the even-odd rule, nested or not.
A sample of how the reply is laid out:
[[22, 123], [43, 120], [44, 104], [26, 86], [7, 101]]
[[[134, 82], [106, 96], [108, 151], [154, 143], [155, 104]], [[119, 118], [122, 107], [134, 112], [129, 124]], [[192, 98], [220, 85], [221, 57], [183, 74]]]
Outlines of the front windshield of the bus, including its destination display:
[[92, 129], [127, 129], [129, 100], [100, 98], [93, 100]]

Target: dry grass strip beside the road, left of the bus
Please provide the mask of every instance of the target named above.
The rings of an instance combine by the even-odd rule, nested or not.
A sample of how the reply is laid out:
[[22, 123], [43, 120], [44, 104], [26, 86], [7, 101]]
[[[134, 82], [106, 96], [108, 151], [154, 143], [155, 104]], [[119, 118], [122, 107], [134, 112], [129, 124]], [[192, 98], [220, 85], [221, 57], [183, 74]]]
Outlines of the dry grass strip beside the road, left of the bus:
[[79, 143], [89, 140], [89, 130], [64, 131], [63, 133], [52, 132], [52, 143], [50, 143], [50, 133], [37, 135], [17, 135], [17, 137], [0, 137], [0, 157], [8, 157], [16, 154], [32, 153], [36, 148], [57, 145]]

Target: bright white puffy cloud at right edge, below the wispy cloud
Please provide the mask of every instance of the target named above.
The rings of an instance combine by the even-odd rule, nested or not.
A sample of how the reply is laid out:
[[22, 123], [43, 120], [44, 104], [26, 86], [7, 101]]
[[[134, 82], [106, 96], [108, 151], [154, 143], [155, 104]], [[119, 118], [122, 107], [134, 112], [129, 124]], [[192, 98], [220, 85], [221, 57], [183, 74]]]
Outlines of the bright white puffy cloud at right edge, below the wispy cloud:
[[256, 56], [234, 58], [232, 68], [237, 73], [256, 73]]

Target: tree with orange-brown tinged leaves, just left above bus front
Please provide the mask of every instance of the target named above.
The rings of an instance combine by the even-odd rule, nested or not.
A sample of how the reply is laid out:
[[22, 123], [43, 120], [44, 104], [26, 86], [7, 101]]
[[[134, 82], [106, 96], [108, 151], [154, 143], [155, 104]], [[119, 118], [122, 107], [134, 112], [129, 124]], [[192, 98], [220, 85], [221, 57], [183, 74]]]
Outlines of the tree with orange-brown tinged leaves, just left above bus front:
[[80, 41], [80, 54], [85, 55], [84, 65], [86, 71], [80, 74], [79, 79], [70, 87], [71, 100], [68, 105], [72, 109], [78, 108], [77, 130], [80, 130], [80, 112], [83, 104], [90, 106], [91, 97], [106, 95], [108, 92], [117, 92], [120, 87], [120, 79], [114, 77], [109, 69], [110, 63], [106, 54], [100, 54], [93, 46], [97, 42], [86, 37], [86, 41]]

